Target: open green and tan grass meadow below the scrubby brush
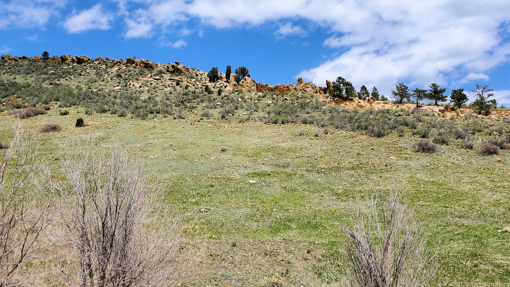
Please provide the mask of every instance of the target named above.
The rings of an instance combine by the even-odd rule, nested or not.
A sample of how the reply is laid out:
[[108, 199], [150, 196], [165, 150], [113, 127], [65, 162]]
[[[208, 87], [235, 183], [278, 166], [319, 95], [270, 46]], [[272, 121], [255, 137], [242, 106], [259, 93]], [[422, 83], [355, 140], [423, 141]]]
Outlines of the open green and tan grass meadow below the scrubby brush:
[[[334, 128], [314, 137], [313, 125], [239, 124], [239, 112], [228, 121], [215, 114], [195, 122], [200, 110], [186, 120], [148, 121], [68, 110], [22, 123], [33, 130], [45, 123], [62, 126], [39, 135], [41, 156], [55, 169], [58, 162], [49, 159], [61, 145], [87, 135], [105, 148], [118, 138], [146, 158], [148, 170], [166, 186], [168, 204], [183, 218], [190, 272], [181, 285], [339, 284], [348, 262], [339, 252], [336, 223], [349, 220], [347, 202], [393, 175], [405, 177], [430, 244], [445, 246], [431, 286], [510, 280], [510, 233], [497, 232], [510, 225], [508, 150], [482, 157], [452, 140], [436, 154], [418, 154], [410, 150], [417, 136], [407, 128], [403, 137]], [[78, 116], [86, 127], [74, 127]], [[6, 130], [12, 121], [5, 116], [0, 125]], [[305, 135], [296, 136], [301, 128]], [[502, 161], [494, 162], [496, 157]]]

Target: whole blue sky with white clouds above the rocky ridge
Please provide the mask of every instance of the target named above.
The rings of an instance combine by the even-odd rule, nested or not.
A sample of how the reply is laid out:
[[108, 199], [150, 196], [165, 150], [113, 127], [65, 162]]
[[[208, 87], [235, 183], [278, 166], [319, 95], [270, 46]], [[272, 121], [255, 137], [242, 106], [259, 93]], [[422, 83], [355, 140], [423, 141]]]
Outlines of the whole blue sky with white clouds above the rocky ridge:
[[[510, 106], [510, 1], [0, 1], [0, 53], [244, 65], [258, 82], [490, 84]], [[447, 92], [447, 93], [448, 93]]]

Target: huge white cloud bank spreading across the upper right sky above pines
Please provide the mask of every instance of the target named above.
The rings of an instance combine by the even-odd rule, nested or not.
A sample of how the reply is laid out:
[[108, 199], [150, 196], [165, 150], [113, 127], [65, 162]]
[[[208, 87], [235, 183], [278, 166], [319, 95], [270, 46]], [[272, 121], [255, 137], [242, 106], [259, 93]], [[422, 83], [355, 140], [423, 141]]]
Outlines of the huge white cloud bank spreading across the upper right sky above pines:
[[[155, 26], [198, 18], [216, 28], [287, 22], [277, 34], [304, 31], [301, 19], [328, 29], [324, 45], [337, 53], [299, 76], [324, 85], [338, 76], [355, 86], [376, 85], [385, 94], [399, 82], [411, 86], [458, 83], [508, 61], [503, 39], [510, 2], [480, 0], [163, 0], [138, 10]], [[301, 30], [299, 30], [301, 29]], [[506, 36], [505, 36], [506, 37]], [[466, 78], [467, 79], [467, 78]], [[481, 79], [480, 79], [481, 80]]]

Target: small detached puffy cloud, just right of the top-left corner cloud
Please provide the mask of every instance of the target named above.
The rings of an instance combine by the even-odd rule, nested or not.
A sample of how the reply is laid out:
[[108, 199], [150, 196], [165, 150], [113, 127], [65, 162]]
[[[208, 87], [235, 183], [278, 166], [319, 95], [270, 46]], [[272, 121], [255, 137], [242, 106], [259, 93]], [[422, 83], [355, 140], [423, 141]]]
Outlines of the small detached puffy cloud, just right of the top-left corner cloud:
[[96, 4], [88, 10], [77, 13], [72, 11], [72, 15], [68, 16], [64, 21], [64, 28], [69, 33], [81, 33], [88, 30], [108, 30], [110, 26], [110, 14], [103, 13], [101, 4]]

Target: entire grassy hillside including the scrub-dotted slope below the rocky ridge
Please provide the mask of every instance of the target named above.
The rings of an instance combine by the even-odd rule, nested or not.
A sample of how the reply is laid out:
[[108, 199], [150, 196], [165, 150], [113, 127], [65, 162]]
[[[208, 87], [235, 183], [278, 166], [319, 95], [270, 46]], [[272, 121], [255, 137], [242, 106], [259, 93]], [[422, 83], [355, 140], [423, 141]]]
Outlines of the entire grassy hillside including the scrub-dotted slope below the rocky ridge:
[[[62, 127], [39, 135], [41, 157], [55, 170], [58, 161], [52, 159], [60, 147], [89, 135], [105, 148], [118, 138], [146, 159], [164, 183], [165, 200], [182, 214], [182, 252], [189, 254], [189, 264], [181, 286], [342, 285], [348, 261], [340, 252], [337, 223], [349, 221], [347, 202], [393, 178], [405, 179], [429, 246], [444, 246], [431, 286], [510, 280], [510, 233], [498, 232], [510, 225], [510, 150], [477, 153], [484, 140], [510, 132], [503, 119], [322, 108], [314, 95], [234, 89], [218, 99], [198, 88], [186, 94], [176, 86], [125, 88], [124, 97], [133, 97], [122, 102], [120, 92], [105, 91], [111, 78], [82, 76], [86, 67], [73, 67], [77, 70], [67, 84], [49, 86], [53, 76], [43, 80], [11, 65], [4, 65], [2, 79], [31, 86], [4, 101], [16, 96], [34, 106], [52, 106], [46, 114], [21, 119], [23, 125]], [[62, 96], [66, 91], [80, 95], [80, 102], [66, 104], [73, 99]], [[60, 96], [41, 100], [42, 94]], [[186, 96], [192, 100], [183, 101]], [[101, 106], [108, 110], [98, 110]], [[138, 116], [164, 107], [166, 112]], [[126, 110], [127, 116], [111, 113], [115, 109]], [[69, 114], [60, 115], [62, 110]], [[74, 126], [77, 117], [85, 119], [85, 127]], [[8, 131], [14, 119], [2, 116], [0, 127]], [[439, 145], [435, 154], [412, 152], [420, 136], [444, 137], [448, 144]], [[468, 137], [473, 150], [462, 147]]]

